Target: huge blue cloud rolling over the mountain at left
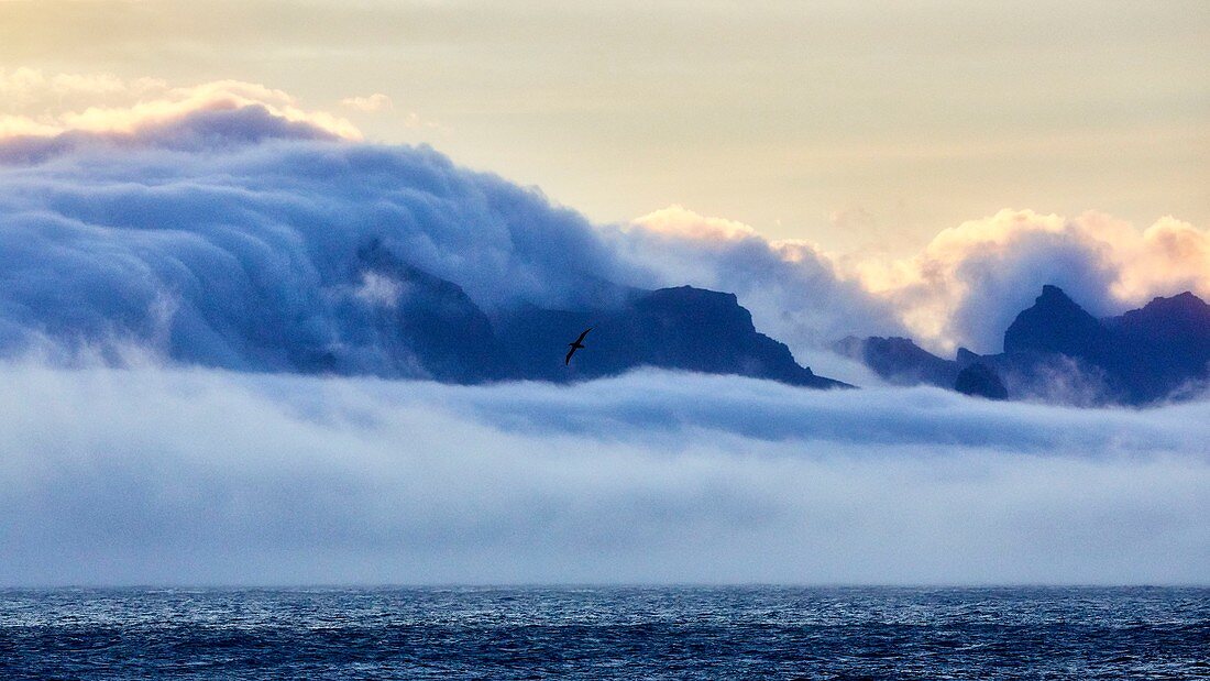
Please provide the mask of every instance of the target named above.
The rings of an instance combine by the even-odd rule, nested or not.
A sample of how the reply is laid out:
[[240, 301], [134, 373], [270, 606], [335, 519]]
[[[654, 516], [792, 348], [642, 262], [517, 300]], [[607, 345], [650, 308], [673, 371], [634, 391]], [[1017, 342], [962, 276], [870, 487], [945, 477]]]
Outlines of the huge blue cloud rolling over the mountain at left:
[[10, 356], [134, 346], [235, 369], [393, 374], [381, 302], [407, 292], [382, 254], [489, 311], [603, 304], [636, 277], [536, 190], [260, 105], [0, 143]]

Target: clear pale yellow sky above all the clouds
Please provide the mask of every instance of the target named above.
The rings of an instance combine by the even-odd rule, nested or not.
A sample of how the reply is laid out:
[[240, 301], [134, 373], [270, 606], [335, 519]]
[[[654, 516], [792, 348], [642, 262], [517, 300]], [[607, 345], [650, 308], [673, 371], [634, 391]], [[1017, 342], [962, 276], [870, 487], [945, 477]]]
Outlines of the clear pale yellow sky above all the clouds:
[[0, 0], [0, 74], [259, 82], [598, 221], [892, 252], [1001, 208], [1210, 224], [1210, 2], [991, 5]]

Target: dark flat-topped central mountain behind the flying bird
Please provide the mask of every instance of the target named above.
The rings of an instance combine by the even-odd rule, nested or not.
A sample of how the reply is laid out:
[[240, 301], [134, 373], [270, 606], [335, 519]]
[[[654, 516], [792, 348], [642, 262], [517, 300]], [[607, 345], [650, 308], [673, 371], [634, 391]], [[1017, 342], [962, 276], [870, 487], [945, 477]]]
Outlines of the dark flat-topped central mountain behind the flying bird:
[[[800, 367], [790, 350], [756, 331], [733, 294], [692, 287], [630, 290], [610, 307], [480, 310], [461, 287], [401, 261], [378, 243], [358, 253], [362, 276], [379, 282], [358, 310], [374, 336], [352, 339], [388, 356], [386, 375], [426, 375], [455, 383], [499, 380], [575, 381], [639, 367], [734, 374], [795, 386], [841, 387]], [[375, 279], [374, 277], [380, 277]], [[369, 284], [367, 288], [373, 289]], [[376, 292], [376, 293], [375, 293]], [[381, 299], [381, 300], [379, 300]], [[567, 353], [567, 339], [592, 327], [590, 348]], [[574, 348], [575, 350], [575, 348]], [[350, 373], [332, 354], [295, 362], [310, 371]]]

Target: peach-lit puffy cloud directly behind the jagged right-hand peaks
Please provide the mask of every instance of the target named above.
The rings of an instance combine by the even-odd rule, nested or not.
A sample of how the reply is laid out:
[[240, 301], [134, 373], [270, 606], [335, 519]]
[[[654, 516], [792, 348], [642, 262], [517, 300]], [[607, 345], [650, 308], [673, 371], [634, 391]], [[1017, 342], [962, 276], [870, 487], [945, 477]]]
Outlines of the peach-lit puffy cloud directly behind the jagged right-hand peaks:
[[854, 258], [849, 272], [937, 347], [998, 352], [1043, 284], [1097, 316], [1192, 290], [1210, 299], [1210, 231], [1164, 218], [1139, 231], [1100, 213], [1001, 210], [943, 230], [909, 259]]

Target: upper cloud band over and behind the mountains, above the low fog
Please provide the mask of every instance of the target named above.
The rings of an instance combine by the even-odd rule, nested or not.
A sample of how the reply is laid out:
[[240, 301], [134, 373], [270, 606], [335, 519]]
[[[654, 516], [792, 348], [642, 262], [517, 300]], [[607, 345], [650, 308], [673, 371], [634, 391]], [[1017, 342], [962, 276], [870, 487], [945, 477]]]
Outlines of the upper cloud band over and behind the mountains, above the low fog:
[[[1006, 209], [914, 256], [839, 255], [680, 206], [592, 225], [432, 149], [357, 143], [344, 119], [255, 83], [18, 69], [0, 74], [0, 92], [18, 111], [0, 125], [7, 356], [137, 346], [227, 368], [339, 357], [388, 374], [367, 329], [390, 300], [368, 294], [408, 292], [358, 261], [371, 243], [489, 312], [609, 305], [627, 287], [733, 292], [800, 360], [862, 385], [872, 377], [822, 350], [912, 335], [943, 353], [997, 352], [1045, 283], [1094, 314], [1186, 289], [1210, 298], [1210, 231], [1175, 218], [1139, 231]], [[45, 112], [53, 97], [100, 104]]]

